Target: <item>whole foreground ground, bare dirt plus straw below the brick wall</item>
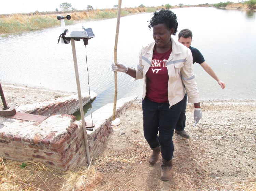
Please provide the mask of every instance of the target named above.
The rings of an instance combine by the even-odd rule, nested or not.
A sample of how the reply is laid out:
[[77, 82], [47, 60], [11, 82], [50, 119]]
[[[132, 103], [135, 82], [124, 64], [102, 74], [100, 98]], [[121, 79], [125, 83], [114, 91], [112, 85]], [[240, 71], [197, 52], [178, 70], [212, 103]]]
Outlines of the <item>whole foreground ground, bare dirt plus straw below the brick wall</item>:
[[187, 106], [190, 139], [174, 133], [170, 181], [159, 179], [161, 157], [154, 166], [148, 163], [151, 150], [143, 136], [141, 100], [136, 100], [89, 169], [63, 172], [29, 162], [21, 169], [21, 162], [2, 160], [0, 190], [29, 190], [21, 181], [39, 188], [30, 190], [256, 190], [256, 101], [202, 100], [201, 105], [196, 127], [193, 106]]

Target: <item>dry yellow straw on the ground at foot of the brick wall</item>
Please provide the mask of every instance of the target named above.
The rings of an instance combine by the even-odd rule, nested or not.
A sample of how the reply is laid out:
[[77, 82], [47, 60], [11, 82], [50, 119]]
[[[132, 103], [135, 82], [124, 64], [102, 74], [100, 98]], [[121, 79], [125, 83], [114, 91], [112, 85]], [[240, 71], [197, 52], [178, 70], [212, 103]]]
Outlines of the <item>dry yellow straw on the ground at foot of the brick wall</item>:
[[[47, 168], [40, 162], [25, 161], [24, 168], [22, 162], [0, 158], [0, 190], [54, 190], [49, 183], [58, 179], [61, 184], [60, 191], [73, 190], [73, 188], [86, 188], [89, 180], [97, 176], [97, 169], [107, 167], [107, 164], [118, 166], [119, 163], [134, 163], [138, 155], [129, 153], [127, 156], [116, 155], [115, 153], [103, 153], [100, 160], [96, 159], [88, 167], [79, 167], [56, 173], [55, 170]], [[117, 168], [117, 170], [119, 170]], [[56, 175], [58, 174], [58, 175]], [[52, 179], [50, 178], [52, 177]], [[54, 180], [53, 180], [54, 178]], [[33, 183], [33, 185], [32, 185]]]

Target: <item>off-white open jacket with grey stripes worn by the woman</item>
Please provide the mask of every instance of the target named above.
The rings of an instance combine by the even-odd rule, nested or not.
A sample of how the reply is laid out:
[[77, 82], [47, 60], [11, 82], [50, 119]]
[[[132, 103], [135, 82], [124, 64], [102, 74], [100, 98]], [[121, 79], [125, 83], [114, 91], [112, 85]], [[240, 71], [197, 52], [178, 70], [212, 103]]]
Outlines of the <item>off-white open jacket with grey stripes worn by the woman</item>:
[[[193, 58], [189, 48], [176, 42], [173, 38], [172, 52], [167, 61], [167, 70], [169, 75], [168, 81], [168, 100], [170, 107], [180, 102], [185, 93], [188, 95], [188, 103], [199, 102], [199, 92], [193, 72]], [[139, 64], [136, 70], [136, 78], [144, 79], [143, 83], [143, 99], [146, 96], [146, 73], [151, 65], [155, 42], [142, 47], [139, 53]], [[186, 90], [184, 89], [184, 85]]]

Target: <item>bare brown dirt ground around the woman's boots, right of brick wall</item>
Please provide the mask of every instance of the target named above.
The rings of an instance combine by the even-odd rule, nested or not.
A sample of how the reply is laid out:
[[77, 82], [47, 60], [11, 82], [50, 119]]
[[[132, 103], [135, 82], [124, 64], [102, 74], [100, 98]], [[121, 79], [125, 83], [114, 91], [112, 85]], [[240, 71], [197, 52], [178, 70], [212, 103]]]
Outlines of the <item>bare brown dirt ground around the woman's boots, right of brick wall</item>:
[[256, 189], [256, 102], [201, 103], [203, 118], [196, 127], [193, 106], [187, 107], [190, 139], [174, 134], [171, 181], [159, 179], [161, 158], [154, 166], [148, 163], [151, 151], [137, 101], [120, 117], [122, 128], [113, 132], [105, 153], [98, 157], [104, 164], [96, 168], [99, 175], [96, 182], [90, 180], [91, 190], [243, 190], [249, 184]]

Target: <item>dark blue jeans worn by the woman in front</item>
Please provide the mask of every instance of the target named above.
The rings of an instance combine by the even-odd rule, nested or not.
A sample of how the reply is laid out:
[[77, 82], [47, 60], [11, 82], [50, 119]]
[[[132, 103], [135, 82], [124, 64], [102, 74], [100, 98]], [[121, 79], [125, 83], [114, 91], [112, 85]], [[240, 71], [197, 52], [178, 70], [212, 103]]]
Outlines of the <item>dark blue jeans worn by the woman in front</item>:
[[172, 136], [181, 113], [182, 101], [169, 107], [168, 103], [156, 103], [147, 98], [142, 101], [144, 137], [151, 148], [161, 146], [165, 160], [173, 157]]

